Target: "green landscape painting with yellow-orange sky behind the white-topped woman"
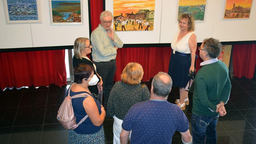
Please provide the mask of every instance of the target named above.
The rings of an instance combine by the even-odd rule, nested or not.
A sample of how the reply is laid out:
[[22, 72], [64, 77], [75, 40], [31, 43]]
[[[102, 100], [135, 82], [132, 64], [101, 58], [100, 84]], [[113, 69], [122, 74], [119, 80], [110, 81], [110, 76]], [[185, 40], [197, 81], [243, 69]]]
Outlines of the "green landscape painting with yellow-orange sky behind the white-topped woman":
[[204, 22], [205, 6], [206, 0], [178, 0], [176, 20], [179, 21], [179, 17], [185, 13], [192, 15], [195, 21]]

